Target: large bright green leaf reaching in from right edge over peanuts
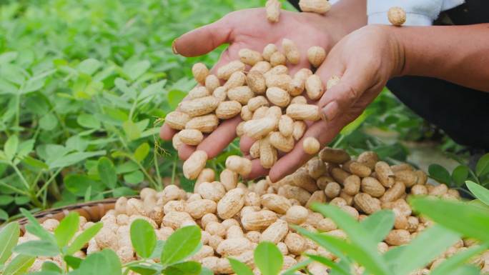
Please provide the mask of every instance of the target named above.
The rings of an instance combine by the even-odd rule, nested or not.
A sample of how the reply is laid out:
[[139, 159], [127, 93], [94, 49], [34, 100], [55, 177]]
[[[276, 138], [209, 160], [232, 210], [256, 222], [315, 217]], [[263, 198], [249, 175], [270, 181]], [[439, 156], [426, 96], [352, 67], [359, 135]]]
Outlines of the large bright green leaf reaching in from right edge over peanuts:
[[463, 236], [489, 242], [489, 211], [462, 201], [414, 198], [410, 204], [416, 211], [436, 223], [460, 232]]

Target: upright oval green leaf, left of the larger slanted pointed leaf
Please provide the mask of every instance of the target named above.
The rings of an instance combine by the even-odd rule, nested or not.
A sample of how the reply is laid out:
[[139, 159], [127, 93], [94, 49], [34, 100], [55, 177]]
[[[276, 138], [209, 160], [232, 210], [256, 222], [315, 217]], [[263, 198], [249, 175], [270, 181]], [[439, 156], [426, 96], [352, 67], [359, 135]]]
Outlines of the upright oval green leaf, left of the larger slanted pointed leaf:
[[148, 259], [156, 247], [157, 236], [149, 222], [144, 219], [137, 219], [131, 224], [131, 242], [137, 254], [144, 259]]

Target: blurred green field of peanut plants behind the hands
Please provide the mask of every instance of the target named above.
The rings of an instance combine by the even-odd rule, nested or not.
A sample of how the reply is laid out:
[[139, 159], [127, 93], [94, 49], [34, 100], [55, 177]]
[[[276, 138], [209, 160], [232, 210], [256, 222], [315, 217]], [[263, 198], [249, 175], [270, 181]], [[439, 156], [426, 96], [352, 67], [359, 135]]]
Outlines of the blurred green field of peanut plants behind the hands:
[[[0, 1], [0, 220], [19, 206], [38, 210], [161, 189], [192, 190], [169, 142], [165, 114], [195, 84], [172, 54], [173, 39], [265, 1]], [[292, 9], [287, 6], [287, 9]], [[464, 156], [464, 149], [388, 91], [332, 142], [357, 154], [423, 160], [415, 151]], [[209, 167], [222, 169], [237, 142]]]

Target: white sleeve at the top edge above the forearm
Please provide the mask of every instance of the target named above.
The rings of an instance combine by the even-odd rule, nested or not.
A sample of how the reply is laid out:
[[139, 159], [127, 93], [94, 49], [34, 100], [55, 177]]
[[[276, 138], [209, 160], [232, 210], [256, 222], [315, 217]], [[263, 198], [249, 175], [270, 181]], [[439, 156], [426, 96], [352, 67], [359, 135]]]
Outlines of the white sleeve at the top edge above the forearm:
[[[335, 4], [341, 0], [330, 0]], [[368, 24], [390, 24], [387, 11], [400, 6], [406, 11], [404, 26], [429, 26], [441, 11], [463, 4], [464, 0], [367, 0]]]

